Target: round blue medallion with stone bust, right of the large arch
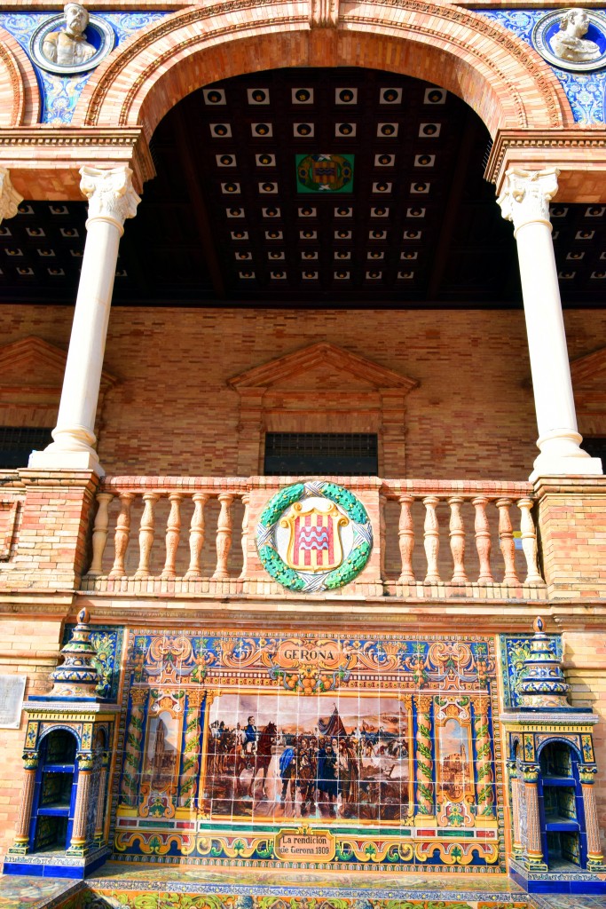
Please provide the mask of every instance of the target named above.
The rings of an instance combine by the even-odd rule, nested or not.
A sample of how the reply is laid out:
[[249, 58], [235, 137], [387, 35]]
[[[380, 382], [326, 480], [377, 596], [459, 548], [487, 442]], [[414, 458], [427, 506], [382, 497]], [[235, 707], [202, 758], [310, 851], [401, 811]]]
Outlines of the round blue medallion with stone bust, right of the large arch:
[[558, 9], [541, 17], [532, 44], [544, 60], [575, 73], [606, 65], [606, 16], [593, 10]]

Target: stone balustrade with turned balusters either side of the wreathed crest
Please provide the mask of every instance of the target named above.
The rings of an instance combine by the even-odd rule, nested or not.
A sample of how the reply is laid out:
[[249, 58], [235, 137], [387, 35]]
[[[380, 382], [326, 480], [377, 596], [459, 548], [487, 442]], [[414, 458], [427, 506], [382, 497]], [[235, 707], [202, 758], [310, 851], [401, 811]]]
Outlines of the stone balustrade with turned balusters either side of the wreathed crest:
[[[331, 477], [373, 523], [373, 554], [332, 595], [545, 599], [527, 483]], [[264, 504], [294, 477], [106, 477], [82, 588], [293, 597], [255, 547]], [[236, 534], [236, 540], [233, 539]]]

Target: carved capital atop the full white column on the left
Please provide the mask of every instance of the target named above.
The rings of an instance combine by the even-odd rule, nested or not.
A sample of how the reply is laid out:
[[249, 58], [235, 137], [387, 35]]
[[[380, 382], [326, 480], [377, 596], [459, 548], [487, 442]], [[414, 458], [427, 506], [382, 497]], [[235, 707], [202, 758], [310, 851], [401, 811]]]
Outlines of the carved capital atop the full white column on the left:
[[130, 167], [101, 167], [85, 165], [80, 168], [80, 190], [88, 199], [88, 221], [109, 221], [116, 225], [120, 235], [124, 232], [126, 218], [134, 218], [141, 202], [133, 189], [133, 171]]

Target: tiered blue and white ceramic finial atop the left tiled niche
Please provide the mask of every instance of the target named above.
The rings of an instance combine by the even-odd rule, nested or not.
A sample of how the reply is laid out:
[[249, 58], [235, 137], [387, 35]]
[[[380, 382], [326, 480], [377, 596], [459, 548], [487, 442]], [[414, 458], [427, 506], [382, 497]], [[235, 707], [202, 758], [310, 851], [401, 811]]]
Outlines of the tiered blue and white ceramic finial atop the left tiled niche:
[[96, 650], [91, 642], [93, 629], [88, 620], [88, 610], [81, 609], [72, 639], [61, 650], [64, 662], [49, 676], [54, 685], [52, 691], [45, 695], [45, 699], [53, 701], [60, 698], [68, 698], [70, 701], [98, 699], [96, 689], [102, 679], [94, 665]]

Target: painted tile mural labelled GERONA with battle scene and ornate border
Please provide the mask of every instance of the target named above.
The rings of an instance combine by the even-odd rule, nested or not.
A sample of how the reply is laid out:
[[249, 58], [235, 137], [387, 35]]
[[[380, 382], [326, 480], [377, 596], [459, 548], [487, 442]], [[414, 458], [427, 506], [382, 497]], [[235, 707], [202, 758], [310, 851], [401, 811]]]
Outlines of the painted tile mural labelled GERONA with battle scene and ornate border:
[[133, 631], [115, 857], [501, 871], [490, 636]]

